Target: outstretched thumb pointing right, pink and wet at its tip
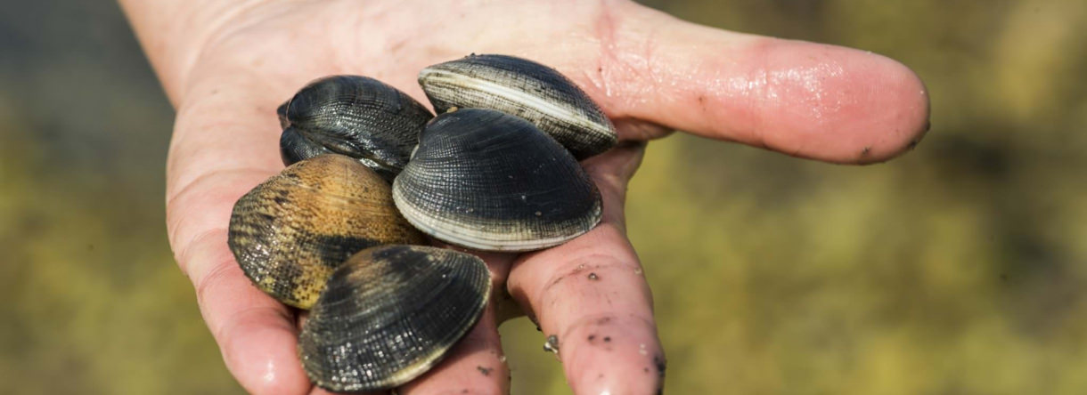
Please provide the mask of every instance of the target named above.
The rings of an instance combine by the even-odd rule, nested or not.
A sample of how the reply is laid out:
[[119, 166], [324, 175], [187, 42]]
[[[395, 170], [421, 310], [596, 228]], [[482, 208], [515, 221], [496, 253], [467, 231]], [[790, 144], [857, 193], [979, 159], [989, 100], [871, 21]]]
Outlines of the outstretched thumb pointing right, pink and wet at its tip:
[[[579, 65], [613, 117], [838, 163], [892, 157], [928, 128], [928, 95], [908, 67], [871, 52], [736, 34], [629, 4], [596, 26]], [[591, 62], [591, 61], [590, 61]]]

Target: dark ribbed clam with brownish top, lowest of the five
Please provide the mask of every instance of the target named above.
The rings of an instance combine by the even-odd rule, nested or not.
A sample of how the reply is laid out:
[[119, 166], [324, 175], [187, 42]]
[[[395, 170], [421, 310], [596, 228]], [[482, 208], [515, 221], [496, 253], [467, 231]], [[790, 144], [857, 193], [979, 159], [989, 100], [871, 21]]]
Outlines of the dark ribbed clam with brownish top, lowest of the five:
[[352, 256], [302, 324], [302, 367], [332, 391], [388, 390], [427, 371], [475, 324], [490, 272], [468, 254], [387, 245]]

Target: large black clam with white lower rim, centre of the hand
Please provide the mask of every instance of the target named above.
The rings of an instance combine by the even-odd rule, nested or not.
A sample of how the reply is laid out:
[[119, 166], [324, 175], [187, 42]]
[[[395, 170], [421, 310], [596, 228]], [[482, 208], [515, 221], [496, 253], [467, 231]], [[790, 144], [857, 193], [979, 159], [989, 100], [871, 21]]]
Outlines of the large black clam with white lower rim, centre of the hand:
[[441, 114], [392, 183], [397, 208], [448, 243], [486, 251], [561, 244], [600, 221], [600, 192], [570, 152], [491, 110]]

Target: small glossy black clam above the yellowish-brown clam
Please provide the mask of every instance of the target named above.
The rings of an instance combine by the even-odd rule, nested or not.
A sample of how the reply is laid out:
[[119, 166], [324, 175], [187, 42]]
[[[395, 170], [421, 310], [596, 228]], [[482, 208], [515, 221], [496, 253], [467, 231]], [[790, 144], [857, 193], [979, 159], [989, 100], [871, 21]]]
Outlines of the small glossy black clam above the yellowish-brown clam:
[[310, 82], [277, 113], [284, 125], [284, 163], [334, 152], [359, 160], [389, 181], [408, 163], [418, 132], [434, 117], [408, 94], [362, 76]]

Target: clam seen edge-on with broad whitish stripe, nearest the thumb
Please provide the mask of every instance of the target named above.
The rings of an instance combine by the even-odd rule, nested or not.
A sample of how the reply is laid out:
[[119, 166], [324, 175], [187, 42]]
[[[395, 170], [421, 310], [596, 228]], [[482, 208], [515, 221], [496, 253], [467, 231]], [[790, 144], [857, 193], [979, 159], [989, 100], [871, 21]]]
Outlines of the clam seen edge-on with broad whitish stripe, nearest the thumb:
[[525, 59], [470, 55], [424, 68], [423, 91], [438, 113], [491, 109], [532, 122], [577, 160], [608, 151], [617, 135], [608, 116], [559, 72]]

